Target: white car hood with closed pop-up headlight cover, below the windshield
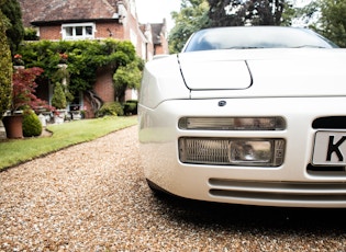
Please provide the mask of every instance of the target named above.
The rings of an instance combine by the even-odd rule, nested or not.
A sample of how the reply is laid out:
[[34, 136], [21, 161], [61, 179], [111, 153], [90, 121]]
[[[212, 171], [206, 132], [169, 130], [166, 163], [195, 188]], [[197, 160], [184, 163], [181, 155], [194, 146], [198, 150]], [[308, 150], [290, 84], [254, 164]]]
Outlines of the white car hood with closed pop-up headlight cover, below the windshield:
[[192, 99], [346, 94], [345, 49], [210, 50], [178, 60]]

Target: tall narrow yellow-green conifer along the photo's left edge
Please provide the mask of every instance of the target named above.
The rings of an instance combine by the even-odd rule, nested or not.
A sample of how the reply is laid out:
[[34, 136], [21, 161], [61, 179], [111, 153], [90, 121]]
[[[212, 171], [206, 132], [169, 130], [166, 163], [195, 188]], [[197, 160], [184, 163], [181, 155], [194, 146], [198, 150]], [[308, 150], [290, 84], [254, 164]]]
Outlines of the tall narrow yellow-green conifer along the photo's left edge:
[[[0, 5], [3, 0], [0, 0]], [[0, 10], [0, 119], [11, 104], [12, 62], [11, 50], [5, 36], [4, 16]]]

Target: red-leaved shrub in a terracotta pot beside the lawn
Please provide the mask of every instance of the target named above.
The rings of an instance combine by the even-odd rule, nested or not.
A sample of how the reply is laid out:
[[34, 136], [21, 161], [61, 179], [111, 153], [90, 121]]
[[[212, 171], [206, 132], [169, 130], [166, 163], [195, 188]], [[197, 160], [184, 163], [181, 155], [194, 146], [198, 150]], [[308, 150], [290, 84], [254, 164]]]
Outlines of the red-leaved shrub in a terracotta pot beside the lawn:
[[2, 118], [8, 138], [22, 138], [22, 111], [24, 108], [46, 107], [45, 101], [36, 98], [36, 78], [43, 72], [42, 68], [16, 69], [12, 76], [11, 108]]

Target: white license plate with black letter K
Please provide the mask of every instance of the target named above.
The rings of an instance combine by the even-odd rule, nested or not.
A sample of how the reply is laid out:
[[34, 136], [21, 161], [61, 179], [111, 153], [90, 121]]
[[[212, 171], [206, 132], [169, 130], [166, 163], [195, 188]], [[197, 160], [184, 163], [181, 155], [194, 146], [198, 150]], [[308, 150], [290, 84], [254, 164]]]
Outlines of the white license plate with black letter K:
[[312, 163], [346, 165], [346, 131], [317, 131]]

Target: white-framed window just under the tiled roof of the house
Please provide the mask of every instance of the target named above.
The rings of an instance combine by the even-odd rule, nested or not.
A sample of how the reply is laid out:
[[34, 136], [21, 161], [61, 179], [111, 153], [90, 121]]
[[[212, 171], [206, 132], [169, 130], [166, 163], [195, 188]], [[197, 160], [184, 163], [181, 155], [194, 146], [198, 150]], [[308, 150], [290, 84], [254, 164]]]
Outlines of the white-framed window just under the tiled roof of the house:
[[94, 38], [94, 23], [63, 24], [63, 39]]

